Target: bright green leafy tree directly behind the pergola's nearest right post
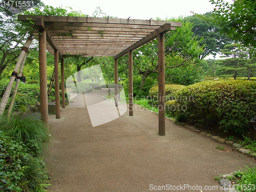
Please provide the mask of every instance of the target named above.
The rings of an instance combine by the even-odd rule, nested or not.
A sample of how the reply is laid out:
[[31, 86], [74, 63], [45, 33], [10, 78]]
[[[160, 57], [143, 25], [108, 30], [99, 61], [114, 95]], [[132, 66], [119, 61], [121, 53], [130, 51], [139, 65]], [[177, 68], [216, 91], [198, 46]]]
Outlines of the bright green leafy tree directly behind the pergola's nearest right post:
[[[186, 22], [181, 28], [165, 34], [166, 69], [199, 62], [203, 47], [199, 45], [197, 36], [191, 31], [192, 28], [193, 25]], [[141, 76], [140, 90], [143, 89], [146, 78], [158, 72], [157, 60], [156, 40], [134, 51], [134, 69]]]

